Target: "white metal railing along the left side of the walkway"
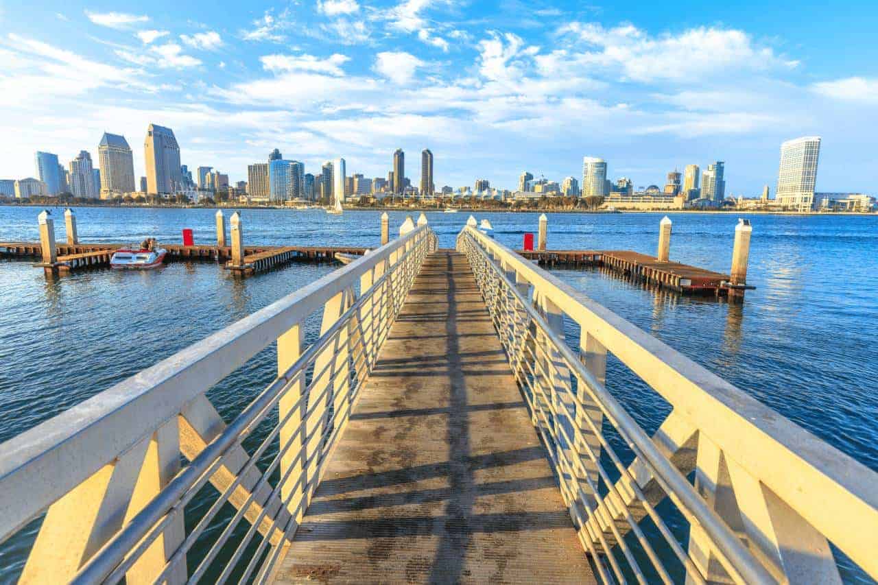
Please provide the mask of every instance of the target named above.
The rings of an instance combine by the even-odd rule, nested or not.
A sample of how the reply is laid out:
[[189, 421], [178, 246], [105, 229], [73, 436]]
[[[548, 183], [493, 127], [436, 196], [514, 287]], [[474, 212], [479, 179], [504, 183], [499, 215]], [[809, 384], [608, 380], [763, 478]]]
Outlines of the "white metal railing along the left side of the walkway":
[[[414, 228], [0, 445], [0, 543], [45, 513], [21, 581], [270, 579], [435, 248]], [[226, 425], [205, 393], [271, 343], [277, 378]]]

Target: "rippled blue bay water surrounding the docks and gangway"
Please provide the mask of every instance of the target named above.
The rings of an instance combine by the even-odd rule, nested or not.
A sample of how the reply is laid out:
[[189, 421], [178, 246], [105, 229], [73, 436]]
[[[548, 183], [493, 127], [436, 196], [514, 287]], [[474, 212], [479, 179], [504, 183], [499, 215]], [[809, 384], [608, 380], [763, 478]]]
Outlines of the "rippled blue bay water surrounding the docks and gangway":
[[[34, 207], [0, 207], [0, 241], [37, 240]], [[151, 235], [214, 242], [214, 211], [76, 210], [81, 242], [139, 242]], [[64, 241], [62, 210], [53, 210]], [[253, 244], [378, 244], [378, 212], [245, 210]], [[406, 213], [390, 213], [395, 231]], [[428, 213], [451, 248], [468, 213]], [[536, 213], [478, 213], [515, 248], [536, 232]], [[549, 214], [550, 249], [654, 253], [661, 214]], [[680, 297], [606, 272], [556, 270], [638, 327], [659, 337], [840, 451], [878, 471], [878, 217], [751, 215], [752, 253], [743, 306]], [[727, 272], [738, 215], [673, 214], [673, 260]], [[246, 280], [211, 262], [158, 271], [77, 272], [47, 281], [29, 262], [0, 261], [0, 441], [47, 420], [176, 350], [335, 269], [291, 264]], [[309, 335], [315, 335], [313, 325]], [[274, 375], [270, 349], [210, 397], [231, 419]], [[654, 394], [612, 361], [608, 388], [654, 430], [666, 415]], [[0, 547], [0, 581], [18, 573], [25, 544]], [[848, 581], [867, 581], [846, 572]]]

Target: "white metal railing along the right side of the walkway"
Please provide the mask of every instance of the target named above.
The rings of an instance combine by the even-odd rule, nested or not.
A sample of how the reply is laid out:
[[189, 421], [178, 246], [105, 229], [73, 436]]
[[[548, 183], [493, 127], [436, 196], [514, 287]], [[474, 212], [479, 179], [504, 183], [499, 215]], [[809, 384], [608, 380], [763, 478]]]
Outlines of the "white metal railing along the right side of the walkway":
[[[457, 249], [602, 581], [840, 582], [830, 542], [878, 576], [878, 474], [474, 227]], [[670, 404], [651, 437], [608, 355]]]

